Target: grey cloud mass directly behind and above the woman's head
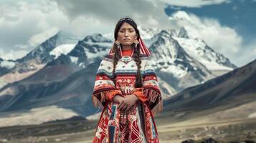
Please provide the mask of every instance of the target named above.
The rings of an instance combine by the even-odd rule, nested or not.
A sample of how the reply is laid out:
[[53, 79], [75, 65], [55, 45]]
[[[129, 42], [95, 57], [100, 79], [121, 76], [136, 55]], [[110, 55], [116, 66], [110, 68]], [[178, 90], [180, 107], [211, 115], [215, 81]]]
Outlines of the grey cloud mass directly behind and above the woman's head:
[[[115, 24], [120, 18], [129, 16], [133, 18], [138, 25], [150, 27], [168, 28], [170, 21], [164, 12], [165, 4], [161, 1], [146, 0], [55, 0], [62, 11], [65, 11], [72, 21], [80, 19], [85, 21], [83, 31], [91, 31], [91, 27], [98, 26], [95, 31], [113, 32]], [[84, 19], [82, 19], [84, 17]], [[94, 22], [95, 21], [95, 22]]]

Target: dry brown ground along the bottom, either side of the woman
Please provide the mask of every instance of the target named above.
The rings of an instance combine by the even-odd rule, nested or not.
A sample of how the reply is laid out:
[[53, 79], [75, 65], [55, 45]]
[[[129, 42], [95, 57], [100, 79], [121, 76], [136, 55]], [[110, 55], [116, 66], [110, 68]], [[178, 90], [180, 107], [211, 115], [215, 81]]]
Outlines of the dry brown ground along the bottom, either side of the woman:
[[[0, 129], [0, 142], [8, 142], [8, 143], [54, 143], [54, 142], [62, 142], [62, 143], [87, 143], [92, 142], [93, 135], [95, 133], [95, 126], [97, 122], [86, 123], [85, 127], [83, 127], [83, 131], [76, 131], [77, 126], [81, 125], [81, 123], [74, 124], [72, 123], [74, 129], [69, 125], [69, 133], [61, 133], [60, 126], [63, 125], [48, 125], [42, 127], [27, 127], [22, 129]], [[82, 124], [84, 125], [84, 124]], [[208, 122], [207, 120], [198, 121], [198, 120], [190, 120], [185, 122], [176, 122], [169, 123], [168, 120], [157, 119], [156, 125], [158, 129], [158, 135], [160, 142], [163, 143], [180, 143], [186, 139], [202, 139], [207, 137], [212, 137], [213, 139], [217, 139], [219, 141], [224, 142], [242, 142], [245, 139], [256, 140], [256, 119], [237, 119], [233, 121], [216, 121], [216, 122]], [[49, 127], [54, 127], [53, 130], [49, 129]], [[66, 127], [67, 128], [67, 127]], [[47, 129], [47, 130], [45, 130]], [[63, 128], [65, 129], [65, 128]], [[63, 130], [62, 129], [62, 130]], [[22, 134], [20, 132], [24, 132], [25, 130], [33, 130], [34, 134], [30, 134], [27, 136], [19, 136]], [[49, 135], [43, 135], [42, 130], [48, 132]], [[50, 133], [52, 130], [52, 134]], [[72, 130], [72, 132], [70, 132]], [[11, 131], [11, 132], [10, 132]], [[14, 135], [14, 131], [18, 132]], [[37, 132], [40, 131], [40, 132]], [[44, 132], [44, 134], [45, 134]], [[65, 132], [65, 131], [63, 131]], [[39, 134], [40, 133], [40, 134]]]

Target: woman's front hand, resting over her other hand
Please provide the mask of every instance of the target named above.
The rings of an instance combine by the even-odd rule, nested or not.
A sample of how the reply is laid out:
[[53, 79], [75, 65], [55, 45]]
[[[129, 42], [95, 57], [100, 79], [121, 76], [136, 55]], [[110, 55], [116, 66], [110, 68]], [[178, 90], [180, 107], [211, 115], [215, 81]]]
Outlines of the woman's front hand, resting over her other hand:
[[135, 94], [131, 94], [122, 98], [123, 99], [120, 99], [118, 109], [124, 110], [125, 112], [128, 112], [128, 110], [131, 109], [131, 107], [133, 107], [133, 104], [135, 104], [138, 101], [138, 97]]

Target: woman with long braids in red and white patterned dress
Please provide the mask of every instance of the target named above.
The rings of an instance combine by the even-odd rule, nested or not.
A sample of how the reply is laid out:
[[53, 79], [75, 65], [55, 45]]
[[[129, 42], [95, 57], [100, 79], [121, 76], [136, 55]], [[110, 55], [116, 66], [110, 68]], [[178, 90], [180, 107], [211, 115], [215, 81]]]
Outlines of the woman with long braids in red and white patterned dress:
[[96, 74], [93, 103], [103, 112], [93, 142], [159, 142], [153, 114], [163, 102], [150, 55], [133, 19], [120, 19]]

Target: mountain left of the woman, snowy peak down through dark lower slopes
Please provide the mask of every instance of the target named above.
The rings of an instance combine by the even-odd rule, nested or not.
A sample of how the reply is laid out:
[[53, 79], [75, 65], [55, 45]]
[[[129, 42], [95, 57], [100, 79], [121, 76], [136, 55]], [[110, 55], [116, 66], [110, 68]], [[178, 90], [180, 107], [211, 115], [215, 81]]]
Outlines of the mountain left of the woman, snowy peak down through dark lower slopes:
[[[101, 34], [93, 34], [78, 41], [75, 46], [56, 46], [49, 51], [52, 61], [48, 61], [39, 71], [0, 89], [0, 111], [15, 114], [16, 110], [24, 109], [21, 118], [26, 121], [27, 116], [23, 115], [40, 107], [48, 109], [50, 106], [57, 106], [65, 111], [72, 109], [74, 114], [84, 117], [92, 114], [96, 111], [91, 102], [95, 80], [93, 75], [100, 59], [108, 53], [112, 44]], [[60, 115], [58, 119], [67, 117]], [[47, 122], [50, 119], [56, 119], [54, 114], [49, 115]], [[16, 118], [10, 121], [15, 122]], [[34, 124], [43, 122], [40, 119], [34, 121], [37, 121]], [[24, 121], [24, 124], [27, 122]]]

